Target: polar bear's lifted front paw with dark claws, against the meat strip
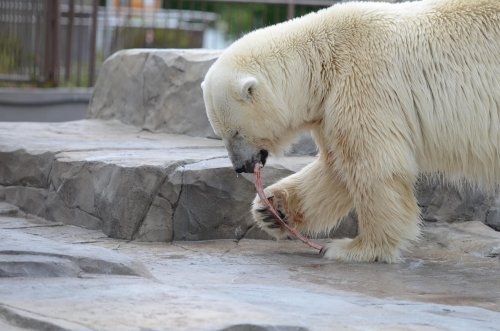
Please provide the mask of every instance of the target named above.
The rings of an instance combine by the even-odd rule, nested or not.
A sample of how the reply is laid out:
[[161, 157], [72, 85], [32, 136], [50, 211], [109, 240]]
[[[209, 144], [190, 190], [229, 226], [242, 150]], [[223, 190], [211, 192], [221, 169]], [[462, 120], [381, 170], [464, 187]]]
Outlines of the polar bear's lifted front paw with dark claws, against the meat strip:
[[[280, 215], [281, 219], [289, 224], [289, 217], [285, 211], [283, 198], [272, 193], [269, 194], [268, 192], [266, 192], [266, 196], [271, 202], [271, 205], [273, 205], [278, 212], [278, 215]], [[257, 225], [270, 236], [276, 239], [283, 239], [288, 236], [287, 230], [276, 220], [259, 196], [257, 196], [253, 202], [252, 214]]]

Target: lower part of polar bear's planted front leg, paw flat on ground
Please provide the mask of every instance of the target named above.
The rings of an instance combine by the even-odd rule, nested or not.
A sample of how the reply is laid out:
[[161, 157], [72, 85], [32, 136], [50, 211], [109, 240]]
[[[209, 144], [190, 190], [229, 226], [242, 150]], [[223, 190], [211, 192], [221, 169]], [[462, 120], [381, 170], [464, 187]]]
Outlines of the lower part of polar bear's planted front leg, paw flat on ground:
[[413, 183], [394, 176], [357, 198], [358, 236], [334, 240], [324, 247], [323, 256], [347, 262], [397, 262], [400, 250], [420, 232]]

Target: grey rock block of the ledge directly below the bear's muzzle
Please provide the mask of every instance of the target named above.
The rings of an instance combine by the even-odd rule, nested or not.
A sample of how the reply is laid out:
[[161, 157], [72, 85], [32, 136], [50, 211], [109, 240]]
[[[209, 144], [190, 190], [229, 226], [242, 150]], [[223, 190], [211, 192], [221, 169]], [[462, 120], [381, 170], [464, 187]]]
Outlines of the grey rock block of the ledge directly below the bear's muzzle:
[[[301, 168], [307, 161], [290, 160], [288, 167], [271, 163], [263, 179], [274, 182], [292, 174], [290, 166]], [[241, 239], [254, 226], [250, 214], [255, 196], [253, 177], [237, 175], [227, 158], [178, 167], [166, 181], [165, 191], [179, 192], [173, 216], [175, 240]], [[255, 232], [251, 233], [255, 237]]]

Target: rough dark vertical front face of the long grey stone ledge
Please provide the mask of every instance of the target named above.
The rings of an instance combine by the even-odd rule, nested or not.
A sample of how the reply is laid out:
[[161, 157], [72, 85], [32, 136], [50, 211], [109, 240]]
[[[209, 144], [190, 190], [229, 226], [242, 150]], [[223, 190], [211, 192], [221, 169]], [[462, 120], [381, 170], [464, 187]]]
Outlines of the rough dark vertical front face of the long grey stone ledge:
[[[227, 157], [124, 167], [61, 161], [60, 152], [2, 154], [7, 167], [32, 168], [31, 176], [4, 180], [0, 186], [0, 199], [23, 213], [125, 240], [270, 239], [255, 228], [250, 215], [255, 195], [252, 176], [237, 176]], [[266, 168], [268, 183], [292, 173]], [[102, 185], [107, 178], [120, 177], [127, 178], [128, 185], [119, 179]], [[207, 197], [212, 197], [213, 206], [203, 205]], [[8, 213], [15, 210], [6, 208]]]

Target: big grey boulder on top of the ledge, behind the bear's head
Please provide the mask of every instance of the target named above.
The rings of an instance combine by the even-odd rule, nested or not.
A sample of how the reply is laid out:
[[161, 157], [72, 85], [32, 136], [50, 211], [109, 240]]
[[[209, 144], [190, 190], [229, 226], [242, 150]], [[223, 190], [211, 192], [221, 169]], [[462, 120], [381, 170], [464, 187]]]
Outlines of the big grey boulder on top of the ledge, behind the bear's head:
[[200, 85], [220, 52], [119, 51], [102, 65], [88, 117], [118, 119], [150, 131], [215, 137]]

